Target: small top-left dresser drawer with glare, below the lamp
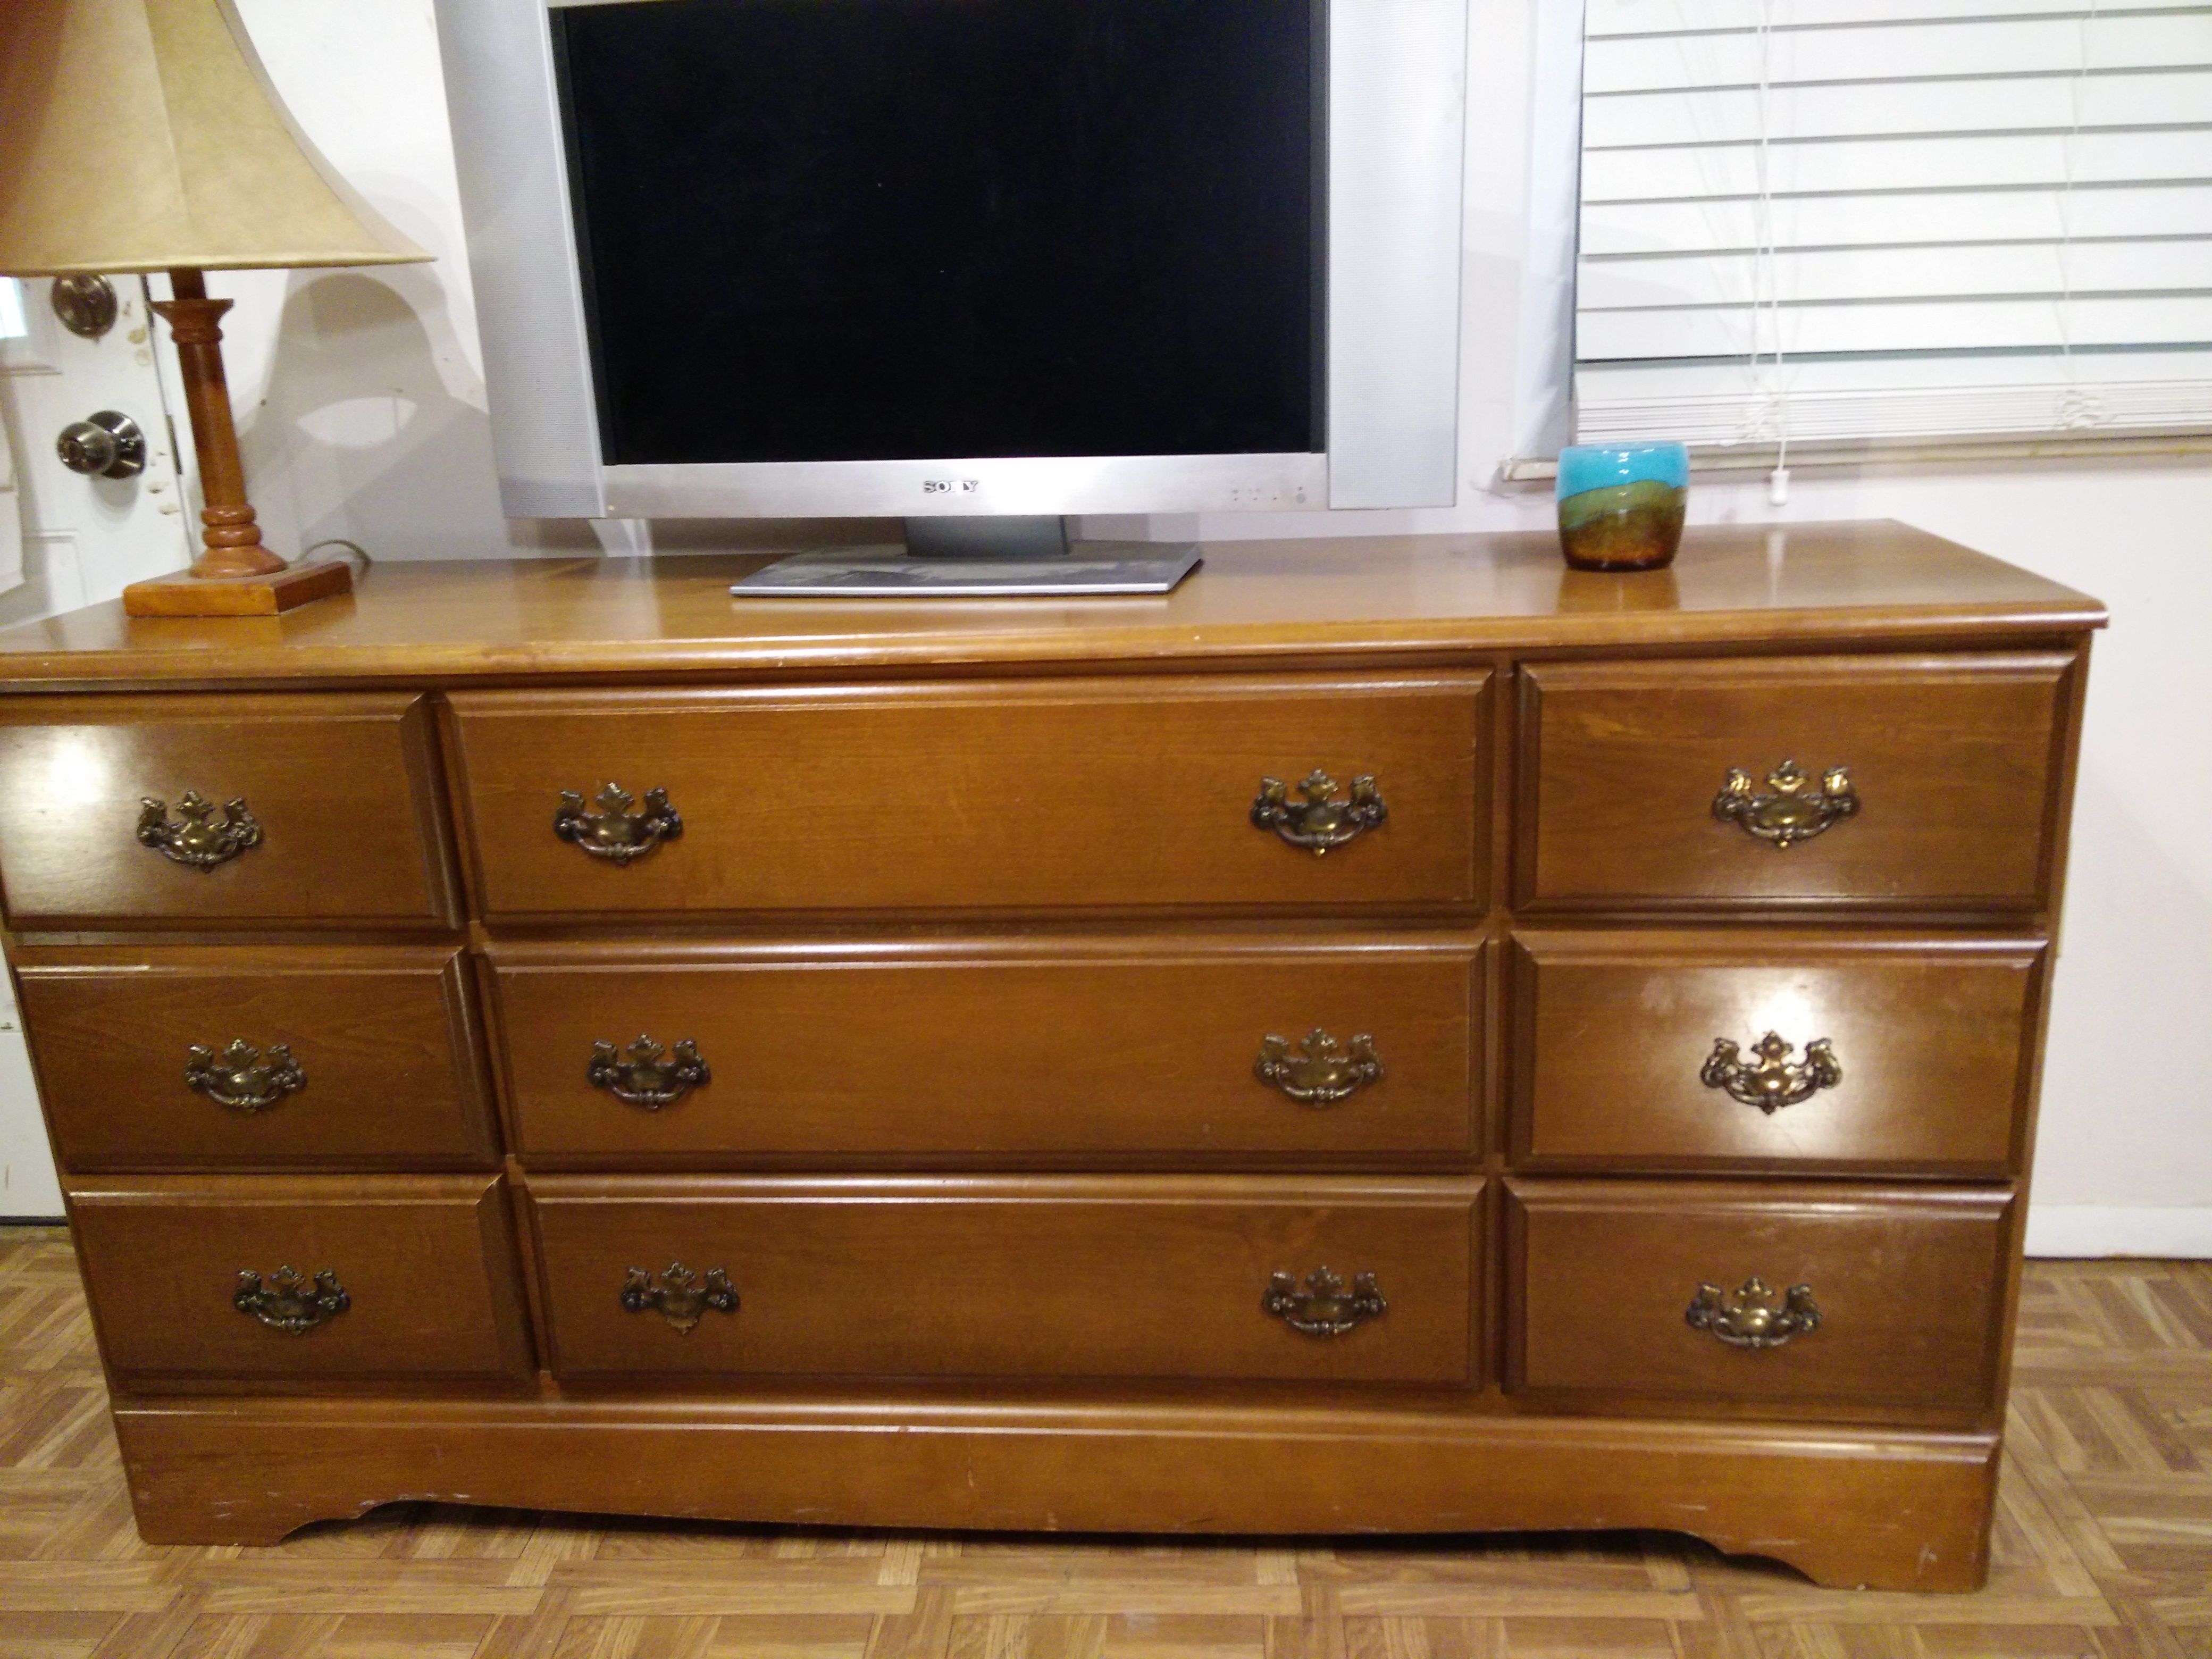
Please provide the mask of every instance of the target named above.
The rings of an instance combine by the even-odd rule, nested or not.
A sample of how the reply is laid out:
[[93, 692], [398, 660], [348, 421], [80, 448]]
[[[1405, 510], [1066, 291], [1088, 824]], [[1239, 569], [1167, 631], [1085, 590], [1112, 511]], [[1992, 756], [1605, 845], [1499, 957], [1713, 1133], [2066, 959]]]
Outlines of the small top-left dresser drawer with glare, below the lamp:
[[409, 695], [0, 699], [9, 920], [449, 922], [429, 732]]

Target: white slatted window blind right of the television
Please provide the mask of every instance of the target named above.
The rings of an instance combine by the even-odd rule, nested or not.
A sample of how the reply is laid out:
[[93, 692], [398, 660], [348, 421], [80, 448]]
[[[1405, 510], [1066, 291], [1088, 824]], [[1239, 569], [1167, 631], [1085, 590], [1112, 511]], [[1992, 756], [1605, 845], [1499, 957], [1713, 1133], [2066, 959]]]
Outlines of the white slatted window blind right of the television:
[[2212, 4], [1588, 0], [1575, 429], [2212, 431]]

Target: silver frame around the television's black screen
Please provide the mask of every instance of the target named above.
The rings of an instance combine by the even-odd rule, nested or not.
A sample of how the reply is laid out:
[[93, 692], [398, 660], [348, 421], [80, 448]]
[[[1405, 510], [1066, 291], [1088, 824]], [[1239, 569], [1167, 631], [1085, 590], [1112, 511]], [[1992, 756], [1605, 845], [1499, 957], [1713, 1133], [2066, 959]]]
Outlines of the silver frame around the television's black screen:
[[659, 2], [438, 0], [491, 438], [511, 518], [1212, 513], [1455, 502], [1467, 0], [1325, 0], [1325, 451], [608, 465], [549, 13]]

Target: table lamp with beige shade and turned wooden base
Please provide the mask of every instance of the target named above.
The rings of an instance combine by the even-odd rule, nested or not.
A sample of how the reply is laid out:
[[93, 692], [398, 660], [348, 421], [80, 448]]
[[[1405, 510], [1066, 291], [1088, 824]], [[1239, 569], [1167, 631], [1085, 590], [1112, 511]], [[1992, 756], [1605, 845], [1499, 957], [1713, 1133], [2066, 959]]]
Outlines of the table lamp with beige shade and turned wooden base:
[[175, 294], [155, 310], [184, 369], [206, 551], [124, 588], [131, 615], [274, 615], [352, 588], [343, 562], [261, 546], [223, 383], [230, 301], [204, 272], [425, 259], [292, 124], [230, 0], [0, 0], [0, 274], [166, 270]]

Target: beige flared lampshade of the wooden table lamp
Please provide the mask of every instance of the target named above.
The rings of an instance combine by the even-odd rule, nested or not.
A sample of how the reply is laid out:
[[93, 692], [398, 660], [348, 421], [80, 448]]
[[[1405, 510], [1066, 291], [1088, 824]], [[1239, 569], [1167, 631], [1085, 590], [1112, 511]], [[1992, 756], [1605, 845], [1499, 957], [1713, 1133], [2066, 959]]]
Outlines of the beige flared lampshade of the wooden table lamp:
[[230, 0], [0, 0], [0, 274], [420, 259], [292, 124]]

